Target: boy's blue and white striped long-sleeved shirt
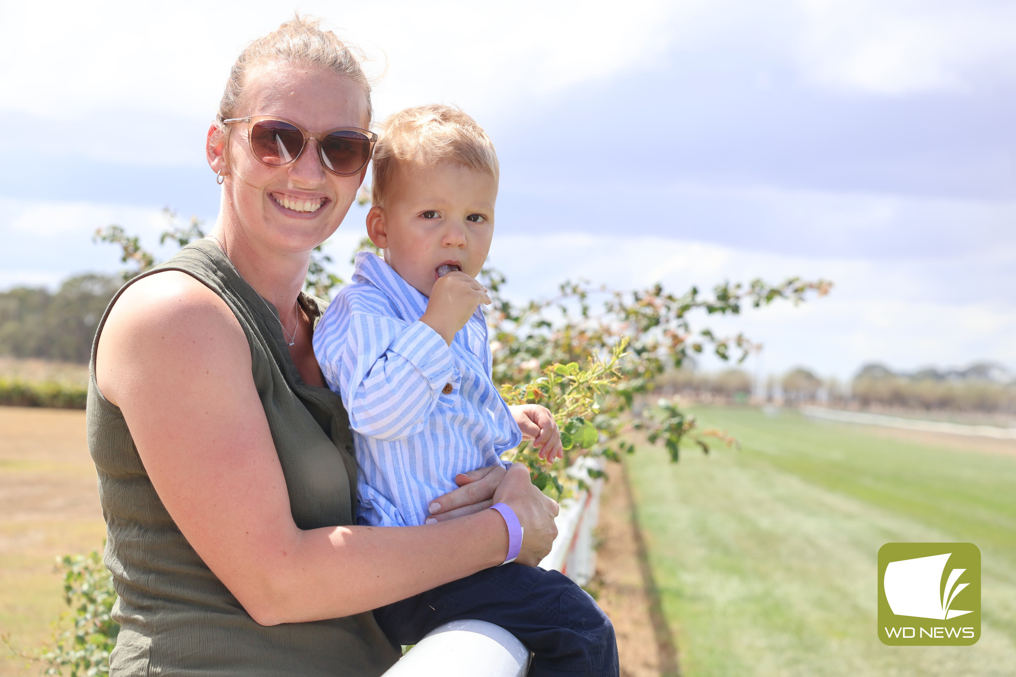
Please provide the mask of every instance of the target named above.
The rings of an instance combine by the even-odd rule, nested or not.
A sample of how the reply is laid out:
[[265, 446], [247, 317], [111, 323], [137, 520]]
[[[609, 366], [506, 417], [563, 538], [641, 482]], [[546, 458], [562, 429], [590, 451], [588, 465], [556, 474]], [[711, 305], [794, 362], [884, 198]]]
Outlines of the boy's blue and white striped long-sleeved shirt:
[[[508, 463], [522, 433], [491, 381], [480, 309], [451, 345], [420, 322], [427, 296], [374, 254], [314, 331], [314, 354], [354, 430], [360, 524], [424, 524], [455, 475]], [[450, 393], [444, 393], [450, 386]]]

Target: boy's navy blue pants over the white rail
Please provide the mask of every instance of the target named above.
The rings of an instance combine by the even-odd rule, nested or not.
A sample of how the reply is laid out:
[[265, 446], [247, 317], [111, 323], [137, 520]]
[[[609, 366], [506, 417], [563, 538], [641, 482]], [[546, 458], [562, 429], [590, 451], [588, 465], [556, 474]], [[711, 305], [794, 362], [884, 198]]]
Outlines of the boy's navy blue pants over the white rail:
[[534, 654], [529, 675], [617, 677], [614, 626], [588, 593], [560, 571], [505, 564], [374, 610], [393, 645], [415, 645], [450, 620], [500, 625]]

